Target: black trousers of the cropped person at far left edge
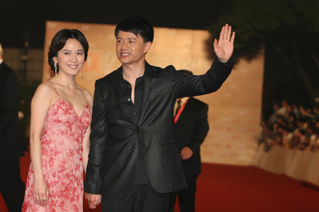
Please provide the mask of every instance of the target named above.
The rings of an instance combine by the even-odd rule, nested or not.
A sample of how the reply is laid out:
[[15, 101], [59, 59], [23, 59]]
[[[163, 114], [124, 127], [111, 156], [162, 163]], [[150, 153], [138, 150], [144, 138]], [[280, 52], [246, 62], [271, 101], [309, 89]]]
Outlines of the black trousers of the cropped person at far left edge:
[[0, 160], [0, 192], [10, 212], [21, 212], [26, 185], [20, 175], [20, 159]]

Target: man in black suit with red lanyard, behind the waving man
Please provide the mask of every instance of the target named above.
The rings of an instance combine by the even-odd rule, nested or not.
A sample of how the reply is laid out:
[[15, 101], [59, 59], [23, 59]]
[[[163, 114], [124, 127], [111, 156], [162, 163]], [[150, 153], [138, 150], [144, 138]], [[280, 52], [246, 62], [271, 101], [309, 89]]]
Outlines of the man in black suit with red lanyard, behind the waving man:
[[[186, 76], [193, 75], [188, 70], [180, 70], [179, 72]], [[186, 97], [177, 99], [174, 108], [175, 141], [179, 148], [188, 188], [169, 194], [169, 212], [174, 212], [176, 196], [179, 197], [179, 210], [181, 212], [194, 212], [196, 179], [201, 173], [200, 146], [209, 130], [208, 105], [196, 98]]]

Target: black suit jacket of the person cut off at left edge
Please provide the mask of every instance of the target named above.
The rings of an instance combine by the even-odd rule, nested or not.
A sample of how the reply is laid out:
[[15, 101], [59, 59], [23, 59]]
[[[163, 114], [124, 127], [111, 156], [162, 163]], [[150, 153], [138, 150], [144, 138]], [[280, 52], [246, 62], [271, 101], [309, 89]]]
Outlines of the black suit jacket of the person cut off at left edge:
[[0, 64], [0, 160], [24, 155], [18, 129], [18, 76], [4, 61]]

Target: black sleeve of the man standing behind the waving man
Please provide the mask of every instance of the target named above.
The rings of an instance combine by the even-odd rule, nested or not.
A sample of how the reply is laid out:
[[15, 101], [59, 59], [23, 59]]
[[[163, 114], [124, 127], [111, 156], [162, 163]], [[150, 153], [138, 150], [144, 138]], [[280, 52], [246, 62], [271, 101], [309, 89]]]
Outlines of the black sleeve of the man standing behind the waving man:
[[201, 146], [201, 143], [205, 140], [208, 130], [209, 130], [209, 124], [208, 124], [208, 105], [203, 105], [204, 107], [201, 107], [201, 110], [198, 110], [197, 112], [197, 119], [196, 119], [196, 131], [191, 139], [191, 142], [189, 145], [187, 145], [189, 148], [191, 148], [191, 151], [195, 152], [198, 150], [199, 146]]

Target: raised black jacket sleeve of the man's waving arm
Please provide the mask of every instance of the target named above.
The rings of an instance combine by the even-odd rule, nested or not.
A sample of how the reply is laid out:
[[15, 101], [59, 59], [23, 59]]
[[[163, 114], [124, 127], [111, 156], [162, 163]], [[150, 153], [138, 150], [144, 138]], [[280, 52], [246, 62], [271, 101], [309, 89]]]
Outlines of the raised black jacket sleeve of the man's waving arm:
[[171, 66], [172, 86], [176, 98], [215, 92], [228, 78], [234, 65], [233, 58], [230, 58], [227, 63], [215, 59], [211, 65], [211, 69], [208, 69], [205, 74], [193, 76], [185, 76]]

